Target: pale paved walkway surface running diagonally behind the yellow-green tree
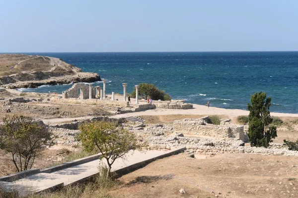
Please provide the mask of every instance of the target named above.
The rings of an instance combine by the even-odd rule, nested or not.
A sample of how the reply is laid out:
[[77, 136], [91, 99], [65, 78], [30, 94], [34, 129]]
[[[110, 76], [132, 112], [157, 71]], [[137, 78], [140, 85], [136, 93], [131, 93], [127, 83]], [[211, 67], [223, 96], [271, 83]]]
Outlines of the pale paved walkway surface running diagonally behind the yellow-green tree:
[[[144, 160], [158, 157], [171, 151], [172, 150], [148, 150], [146, 152], [140, 152], [135, 150], [134, 152], [129, 152], [126, 155], [126, 160], [117, 159], [114, 162], [114, 164], [112, 165], [112, 171], [119, 170], [123, 167], [127, 167], [132, 164], [142, 162]], [[93, 160], [84, 164], [76, 165], [53, 173], [38, 173], [20, 180], [16, 180], [14, 182], [0, 182], [0, 185], [3, 186], [5, 189], [18, 190], [22, 195], [26, 195], [30, 193], [30, 191], [43, 191], [48, 188], [55, 187], [59, 184], [64, 184], [64, 186], [67, 186], [69, 184], [72, 184], [73, 182], [98, 173], [99, 161], [99, 159]], [[102, 162], [104, 163], [105, 159], [103, 159]]]

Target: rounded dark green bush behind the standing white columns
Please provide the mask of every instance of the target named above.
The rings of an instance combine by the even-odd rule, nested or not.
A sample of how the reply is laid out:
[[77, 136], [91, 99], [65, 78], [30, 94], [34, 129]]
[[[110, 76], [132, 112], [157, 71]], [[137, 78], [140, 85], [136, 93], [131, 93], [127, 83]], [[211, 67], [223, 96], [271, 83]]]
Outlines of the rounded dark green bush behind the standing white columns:
[[[134, 88], [131, 97], [136, 96], [136, 88]], [[160, 91], [153, 84], [141, 83], [139, 85], [139, 97], [142, 99], [151, 98], [154, 100], [171, 100], [171, 97], [164, 91]]]

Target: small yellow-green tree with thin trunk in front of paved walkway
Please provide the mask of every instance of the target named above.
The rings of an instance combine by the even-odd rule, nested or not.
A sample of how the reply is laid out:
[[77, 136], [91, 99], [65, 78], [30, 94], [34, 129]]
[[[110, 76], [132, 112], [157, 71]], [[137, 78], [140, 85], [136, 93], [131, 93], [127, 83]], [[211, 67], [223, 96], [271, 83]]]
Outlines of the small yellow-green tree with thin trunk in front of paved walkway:
[[81, 133], [77, 138], [82, 142], [83, 148], [86, 151], [99, 151], [102, 154], [100, 159], [106, 159], [107, 178], [116, 159], [124, 157], [130, 150], [142, 147], [133, 132], [123, 129], [115, 122], [85, 122], [79, 126], [79, 130]]

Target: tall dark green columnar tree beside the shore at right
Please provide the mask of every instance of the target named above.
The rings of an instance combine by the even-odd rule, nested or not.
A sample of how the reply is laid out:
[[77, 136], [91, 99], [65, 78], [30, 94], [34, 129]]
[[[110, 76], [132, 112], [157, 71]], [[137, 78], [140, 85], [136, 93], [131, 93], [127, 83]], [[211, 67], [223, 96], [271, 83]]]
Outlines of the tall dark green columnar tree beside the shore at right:
[[250, 146], [267, 148], [277, 137], [276, 126], [270, 126], [273, 120], [269, 111], [271, 97], [266, 99], [266, 93], [259, 92], [250, 97], [250, 102], [247, 104]]

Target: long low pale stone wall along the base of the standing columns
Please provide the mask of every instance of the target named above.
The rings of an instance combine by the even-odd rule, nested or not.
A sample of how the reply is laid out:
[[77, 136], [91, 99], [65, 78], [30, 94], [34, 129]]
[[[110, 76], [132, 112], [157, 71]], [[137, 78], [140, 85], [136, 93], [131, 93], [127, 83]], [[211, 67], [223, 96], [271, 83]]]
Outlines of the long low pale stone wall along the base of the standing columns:
[[115, 105], [115, 106], [127, 106], [127, 101], [119, 101], [119, 100], [108, 100], [108, 99], [63, 99], [58, 97], [50, 98], [50, 101], [58, 101], [58, 102], [67, 102], [67, 103], [82, 103], [82, 104], [105, 104], [105, 105]]

